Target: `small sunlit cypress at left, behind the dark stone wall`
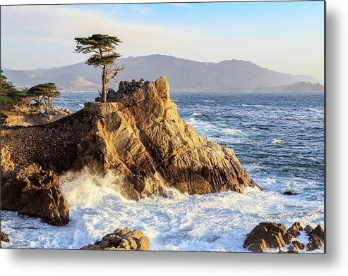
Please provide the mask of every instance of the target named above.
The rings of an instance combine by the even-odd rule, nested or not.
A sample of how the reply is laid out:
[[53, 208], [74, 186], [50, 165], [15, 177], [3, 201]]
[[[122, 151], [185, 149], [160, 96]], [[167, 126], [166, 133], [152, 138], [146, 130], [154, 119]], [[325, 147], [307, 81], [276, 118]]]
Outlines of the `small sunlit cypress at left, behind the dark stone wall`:
[[54, 110], [54, 98], [61, 95], [56, 91], [56, 84], [52, 82], [37, 84], [28, 90], [28, 94], [32, 96], [35, 106], [39, 110], [43, 107], [44, 113], [52, 113]]

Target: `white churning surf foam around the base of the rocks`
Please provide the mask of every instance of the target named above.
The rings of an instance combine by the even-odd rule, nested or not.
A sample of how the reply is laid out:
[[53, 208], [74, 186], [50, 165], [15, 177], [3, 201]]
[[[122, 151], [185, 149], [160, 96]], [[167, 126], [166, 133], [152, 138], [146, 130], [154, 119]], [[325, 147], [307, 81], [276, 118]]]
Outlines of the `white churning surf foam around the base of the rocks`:
[[246, 234], [259, 222], [289, 227], [296, 220], [306, 225], [319, 218], [316, 213], [295, 212], [301, 200], [276, 192], [247, 188], [245, 194], [188, 195], [169, 189], [167, 198], [133, 201], [119, 193], [120, 181], [113, 172], [104, 176], [88, 170], [68, 172], [61, 177], [61, 191], [71, 222], [54, 227], [2, 211], [1, 227], [11, 237], [8, 247], [78, 249], [128, 226], [145, 232], [151, 250], [245, 251]]

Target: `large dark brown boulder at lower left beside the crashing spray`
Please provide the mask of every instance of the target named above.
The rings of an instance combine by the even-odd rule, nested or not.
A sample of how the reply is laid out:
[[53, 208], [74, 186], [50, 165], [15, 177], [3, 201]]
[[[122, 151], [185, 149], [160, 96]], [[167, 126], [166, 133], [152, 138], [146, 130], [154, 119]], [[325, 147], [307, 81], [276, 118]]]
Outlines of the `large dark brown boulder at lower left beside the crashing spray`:
[[52, 225], [66, 225], [68, 206], [59, 191], [59, 180], [52, 170], [40, 165], [22, 165], [1, 182], [1, 209], [42, 218]]

